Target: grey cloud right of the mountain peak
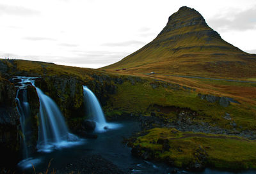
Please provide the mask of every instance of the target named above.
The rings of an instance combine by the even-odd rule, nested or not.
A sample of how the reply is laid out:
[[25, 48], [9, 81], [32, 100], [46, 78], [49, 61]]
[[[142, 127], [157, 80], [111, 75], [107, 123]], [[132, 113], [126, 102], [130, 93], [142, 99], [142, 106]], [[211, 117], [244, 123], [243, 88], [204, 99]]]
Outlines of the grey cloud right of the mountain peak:
[[222, 17], [209, 19], [214, 29], [225, 31], [246, 31], [256, 29], [256, 6], [244, 11], [229, 11]]

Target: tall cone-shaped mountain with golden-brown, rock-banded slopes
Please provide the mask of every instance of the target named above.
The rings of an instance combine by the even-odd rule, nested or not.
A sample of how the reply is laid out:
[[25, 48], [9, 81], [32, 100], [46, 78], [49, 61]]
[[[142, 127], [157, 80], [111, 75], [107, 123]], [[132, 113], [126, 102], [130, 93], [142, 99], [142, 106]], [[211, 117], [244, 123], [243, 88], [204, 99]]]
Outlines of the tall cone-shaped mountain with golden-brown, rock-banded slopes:
[[153, 41], [104, 69], [243, 78], [256, 75], [255, 65], [256, 55], [221, 39], [198, 11], [183, 6]]

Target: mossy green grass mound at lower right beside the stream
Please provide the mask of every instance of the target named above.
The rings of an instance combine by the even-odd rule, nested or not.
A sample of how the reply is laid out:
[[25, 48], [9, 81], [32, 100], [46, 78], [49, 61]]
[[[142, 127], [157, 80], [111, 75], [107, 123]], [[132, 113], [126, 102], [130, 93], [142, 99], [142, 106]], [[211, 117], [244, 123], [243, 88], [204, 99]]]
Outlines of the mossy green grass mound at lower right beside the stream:
[[[159, 138], [168, 140], [169, 150], [157, 143]], [[216, 168], [256, 168], [256, 141], [237, 136], [204, 133], [181, 133], [174, 128], [154, 128], [140, 136], [133, 146], [153, 152], [154, 159], [172, 161], [175, 166], [186, 167], [200, 161], [198, 154], [206, 156], [207, 166]], [[200, 150], [198, 150], [200, 149]]]

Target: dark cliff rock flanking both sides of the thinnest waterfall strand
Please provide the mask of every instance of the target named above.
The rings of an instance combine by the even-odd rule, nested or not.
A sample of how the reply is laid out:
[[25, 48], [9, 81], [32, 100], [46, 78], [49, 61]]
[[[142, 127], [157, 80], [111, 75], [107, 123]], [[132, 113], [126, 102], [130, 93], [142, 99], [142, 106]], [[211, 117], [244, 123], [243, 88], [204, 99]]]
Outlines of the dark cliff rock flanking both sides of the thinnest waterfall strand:
[[[38, 137], [39, 98], [35, 87], [28, 85], [27, 89], [21, 89], [19, 92], [18, 97], [21, 101], [24, 98], [22, 90], [27, 91], [26, 96], [28, 96], [30, 106], [31, 134], [26, 138], [26, 143], [29, 151], [35, 152]], [[16, 95], [17, 89], [15, 89], [14, 83], [0, 77], [0, 153], [1, 161], [3, 161], [0, 168], [11, 168], [22, 159], [22, 138], [24, 134], [22, 133], [20, 115], [15, 101]]]

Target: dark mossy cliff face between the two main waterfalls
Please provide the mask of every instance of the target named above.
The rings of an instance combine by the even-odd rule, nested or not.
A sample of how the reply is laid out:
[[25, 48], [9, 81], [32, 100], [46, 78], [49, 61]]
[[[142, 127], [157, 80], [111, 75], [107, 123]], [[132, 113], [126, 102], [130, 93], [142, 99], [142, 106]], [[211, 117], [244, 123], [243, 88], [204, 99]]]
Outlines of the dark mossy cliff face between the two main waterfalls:
[[35, 82], [60, 107], [69, 127], [84, 118], [83, 82], [72, 76], [45, 76]]

